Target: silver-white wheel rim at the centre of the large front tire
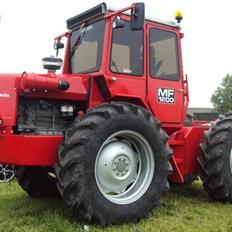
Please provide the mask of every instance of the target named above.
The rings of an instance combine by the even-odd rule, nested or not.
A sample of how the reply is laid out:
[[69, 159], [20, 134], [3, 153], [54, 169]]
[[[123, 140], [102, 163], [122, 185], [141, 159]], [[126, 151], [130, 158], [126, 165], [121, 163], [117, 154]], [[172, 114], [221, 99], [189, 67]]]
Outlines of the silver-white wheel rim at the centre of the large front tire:
[[130, 204], [147, 191], [154, 168], [153, 151], [144, 136], [123, 130], [111, 135], [101, 146], [95, 162], [95, 179], [107, 200]]

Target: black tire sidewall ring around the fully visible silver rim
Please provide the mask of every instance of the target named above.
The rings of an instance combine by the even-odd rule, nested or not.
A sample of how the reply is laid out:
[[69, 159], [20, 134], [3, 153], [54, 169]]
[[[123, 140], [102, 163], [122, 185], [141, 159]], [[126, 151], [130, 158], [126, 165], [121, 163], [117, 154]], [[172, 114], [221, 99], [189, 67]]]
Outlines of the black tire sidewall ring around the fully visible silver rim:
[[[107, 200], [100, 192], [95, 179], [95, 162], [98, 151], [112, 134], [122, 130], [131, 130], [141, 134], [149, 142], [155, 162], [154, 176], [149, 188], [140, 199], [127, 205], [118, 205]], [[82, 176], [85, 185], [83, 196], [87, 201], [91, 199], [91, 205], [95, 210], [105, 211], [102, 213], [108, 217], [117, 217], [117, 215], [128, 217], [128, 211], [131, 212], [130, 214], [137, 214], [141, 207], [150, 208], [153, 206], [152, 202], [159, 201], [162, 185], [167, 176], [167, 158], [165, 159], [164, 156], [162, 136], [155, 125], [147, 123], [144, 118], [139, 118], [133, 114], [117, 115], [117, 117], [112, 117], [98, 126], [94, 133], [89, 136], [89, 144], [91, 146], [87, 147], [86, 154], [88, 160], [84, 167], [84, 170], [88, 170], [88, 175]]]

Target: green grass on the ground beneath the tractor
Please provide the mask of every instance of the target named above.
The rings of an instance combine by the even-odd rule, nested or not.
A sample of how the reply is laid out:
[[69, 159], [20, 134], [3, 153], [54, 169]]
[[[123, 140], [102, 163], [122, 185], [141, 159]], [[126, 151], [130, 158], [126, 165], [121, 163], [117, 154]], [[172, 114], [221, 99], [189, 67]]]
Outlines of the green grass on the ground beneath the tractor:
[[[89, 231], [232, 232], [232, 205], [211, 200], [200, 182], [173, 187], [163, 202], [163, 207], [138, 224], [105, 228], [90, 225]], [[61, 200], [31, 199], [15, 182], [0, 184], [1, 232], [77, 232], [83, 228]]]

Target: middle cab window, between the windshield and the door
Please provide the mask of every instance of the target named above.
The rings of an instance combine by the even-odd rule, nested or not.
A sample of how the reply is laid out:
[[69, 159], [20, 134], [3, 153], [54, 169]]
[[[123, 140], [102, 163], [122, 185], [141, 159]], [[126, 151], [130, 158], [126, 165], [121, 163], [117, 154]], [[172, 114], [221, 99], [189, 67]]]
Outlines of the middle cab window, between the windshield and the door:
[[132, 31], [130, 23], [114, 28], [110, 69], [114, 73], [143, 75], [143, 31]]

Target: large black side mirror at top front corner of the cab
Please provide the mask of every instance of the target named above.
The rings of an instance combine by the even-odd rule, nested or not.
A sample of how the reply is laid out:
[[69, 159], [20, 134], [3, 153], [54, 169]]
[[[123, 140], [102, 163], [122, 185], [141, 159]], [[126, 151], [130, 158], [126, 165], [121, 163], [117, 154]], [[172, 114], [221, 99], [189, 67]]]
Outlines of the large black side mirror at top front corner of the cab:
[[131, 12], [131, 30], [143, 30], [145, 7], [144, 3], [135, 3], [135, 8]]

